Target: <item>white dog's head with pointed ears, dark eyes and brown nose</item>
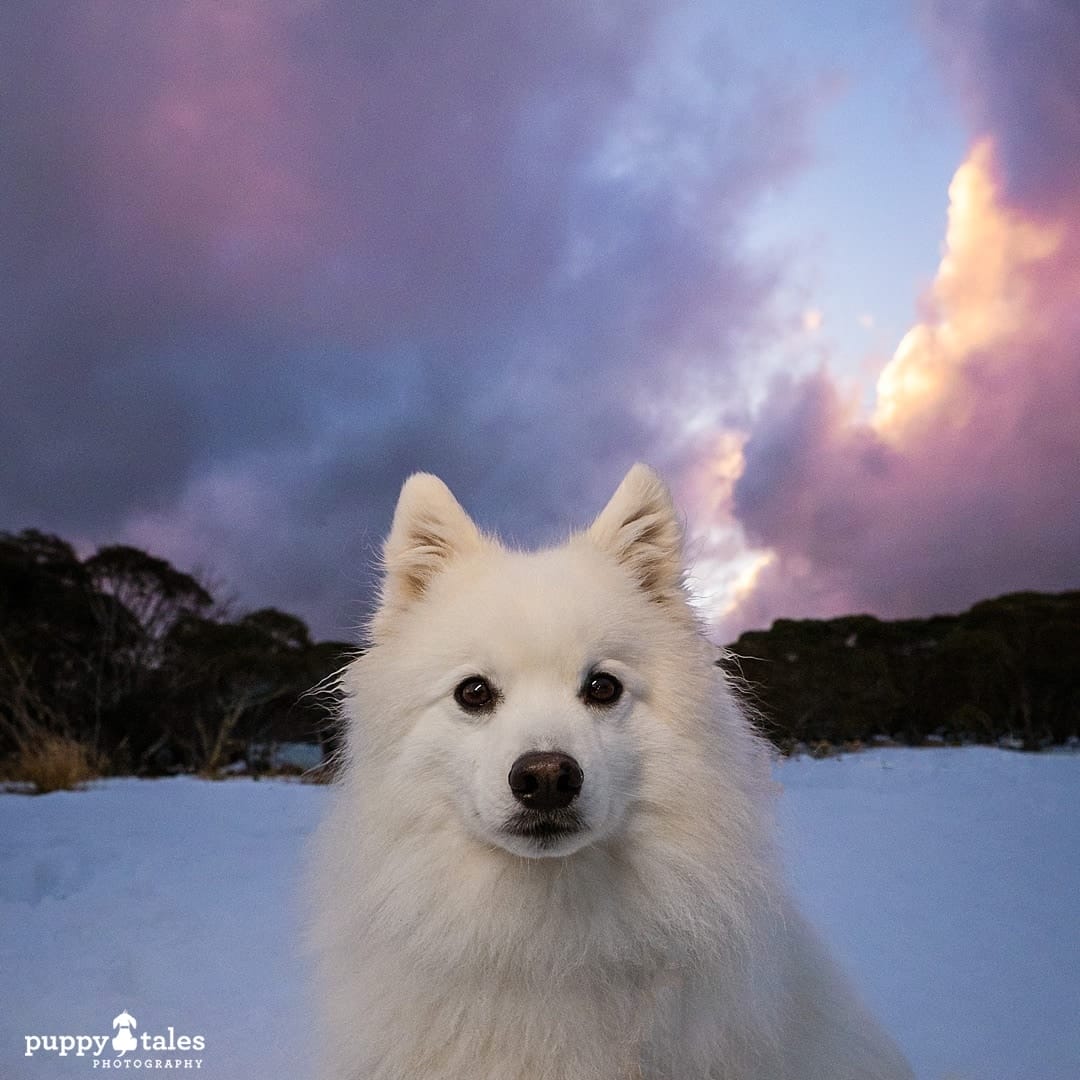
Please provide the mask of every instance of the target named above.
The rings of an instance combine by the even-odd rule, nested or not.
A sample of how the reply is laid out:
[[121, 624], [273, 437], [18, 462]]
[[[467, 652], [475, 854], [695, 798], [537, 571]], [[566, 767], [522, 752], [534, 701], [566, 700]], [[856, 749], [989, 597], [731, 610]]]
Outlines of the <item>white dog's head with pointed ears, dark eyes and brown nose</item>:
[[666, 752], [714, 673], [652, 470], [635, 465], [588, 530], [531, 554], [482, 535], [417, 474], [383, 561], [372, 648], [349, 684], [364, 729], [353, 752], [418, 828], [566, 856], [679, 784]]

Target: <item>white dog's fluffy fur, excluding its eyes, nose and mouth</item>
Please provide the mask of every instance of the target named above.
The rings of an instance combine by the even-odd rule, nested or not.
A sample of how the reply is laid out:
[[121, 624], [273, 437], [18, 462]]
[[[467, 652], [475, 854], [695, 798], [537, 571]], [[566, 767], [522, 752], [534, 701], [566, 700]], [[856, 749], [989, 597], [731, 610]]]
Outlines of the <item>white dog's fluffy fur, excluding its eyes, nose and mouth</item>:
[[[384, 563], [313, 861], [324, 1077], [912, 1076], [786, 896], [768, 753], [687, 603], [656, 473], [535, 554], [418, 474]], [[597, 670], [625, 688], [607, 708], [581, 696]], [[491, 713], [455, 701], [474, 674]], [[534, 750], [585, 778], [584, 828], [546, 848], [501, 828]]]

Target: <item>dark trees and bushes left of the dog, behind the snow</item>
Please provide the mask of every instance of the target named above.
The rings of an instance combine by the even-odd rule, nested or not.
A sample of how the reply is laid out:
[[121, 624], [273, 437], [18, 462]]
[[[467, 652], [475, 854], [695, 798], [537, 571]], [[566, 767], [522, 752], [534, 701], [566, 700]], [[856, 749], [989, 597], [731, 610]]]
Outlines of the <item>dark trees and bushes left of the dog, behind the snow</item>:
[[80, 558], [36, 529], [0, 532], [0, 760], [52, 738], [108, 772], [257, 769], [275, 743], [329, 738], [319, 688], [349, 653], [274, 608], [233, 616], [137, 548]]

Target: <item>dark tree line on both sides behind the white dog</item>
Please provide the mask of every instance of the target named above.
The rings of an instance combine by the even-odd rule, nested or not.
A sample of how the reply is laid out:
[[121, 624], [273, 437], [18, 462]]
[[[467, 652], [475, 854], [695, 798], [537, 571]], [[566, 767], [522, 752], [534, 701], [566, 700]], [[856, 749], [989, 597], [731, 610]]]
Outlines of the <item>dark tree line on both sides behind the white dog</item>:
[[[58, 537], [0, 532], [0, 771], [42, 740], [97, 771], [214, 774], [267, 748], [335, 738], [334, 680], [356, 656], [274, 608], [235, 615], [137, 548], [80, 558]], [[1080, 592], [1016, 593], [957, 616], [781, 619], [721, 664], [782, 748], [1005, 741], [1080, 729]], [[16, 769], [17, 771], [17, 769]]]

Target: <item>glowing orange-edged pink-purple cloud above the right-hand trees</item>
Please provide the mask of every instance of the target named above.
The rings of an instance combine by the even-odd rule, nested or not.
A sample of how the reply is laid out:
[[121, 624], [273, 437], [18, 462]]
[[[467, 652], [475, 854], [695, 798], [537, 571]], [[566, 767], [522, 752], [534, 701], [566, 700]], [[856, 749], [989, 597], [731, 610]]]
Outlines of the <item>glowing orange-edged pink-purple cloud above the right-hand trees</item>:
[[820, 370], [777, 380], [756, 417], [732, 510], [769, 557], [730, 631], [1077, 585], [1077, 221], [1011, 204], [989, 138], [949, 199], [924, 316], [881, 372], [872, 415]]

